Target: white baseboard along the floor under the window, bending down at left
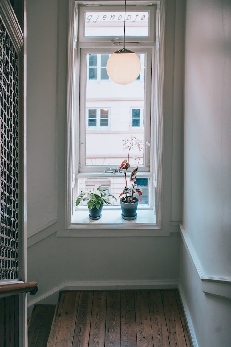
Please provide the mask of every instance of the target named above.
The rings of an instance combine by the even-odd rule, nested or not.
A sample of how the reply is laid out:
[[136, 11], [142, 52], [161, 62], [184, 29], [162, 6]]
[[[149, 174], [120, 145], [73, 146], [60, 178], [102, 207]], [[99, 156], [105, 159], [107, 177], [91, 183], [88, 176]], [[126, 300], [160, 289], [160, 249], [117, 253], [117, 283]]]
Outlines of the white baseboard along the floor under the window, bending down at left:
[[139, 289], [176, 289], [177, 280], [160, 281], [65, 281], [46, 293], [33, 298], [28, 302], [28, 307], [37, 304], [45, 298], [61, 290], [139, 290]]

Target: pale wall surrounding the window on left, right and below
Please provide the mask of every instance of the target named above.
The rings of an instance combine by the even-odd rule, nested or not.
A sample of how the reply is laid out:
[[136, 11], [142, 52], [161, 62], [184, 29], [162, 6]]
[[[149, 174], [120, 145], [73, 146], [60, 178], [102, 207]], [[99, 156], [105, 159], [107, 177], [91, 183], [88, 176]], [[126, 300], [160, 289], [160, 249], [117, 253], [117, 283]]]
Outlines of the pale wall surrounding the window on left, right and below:
[[[182, 124], [182, 111], [173, 113], [172, 107], [175, 1], [168, 1], [166, 12], [162, 231], [173, 232], [168, 237], [56, 237], [56, 231], [65, 230], [67, 6], [64, 0], [27, 3], [28, 280], [38, 282], [38, 297], [64, 281], [177, 283], [180, 237], [171, 213], [174, 209], [174, 220], [180, 220], [176, 206], [181, 197], [175, 187], [181, 185], [181, 157], [177, 152], [172, 158], [172, 142], [182, 147], [182, 133], [178, 128], [173, 133], [172, 124], [174, 119]], [[176, 23], [182, 28], [182, 17]], [[182, 49], [181, 39], [176, 44]], [[182, 65], [176, 62], [175, 68], [182, 78]]]

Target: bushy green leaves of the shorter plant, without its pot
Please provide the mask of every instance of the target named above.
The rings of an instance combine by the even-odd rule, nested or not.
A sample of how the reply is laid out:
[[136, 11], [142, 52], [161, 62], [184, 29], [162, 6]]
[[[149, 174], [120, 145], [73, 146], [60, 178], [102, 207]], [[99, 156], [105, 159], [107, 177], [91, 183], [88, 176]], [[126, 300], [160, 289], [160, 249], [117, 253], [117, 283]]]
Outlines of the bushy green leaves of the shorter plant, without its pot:
[[75, 205], [78, 206], [80, 204], [81, 201], [88, 201], [88, 208], [89, 210], [92, 210], [94, 207], [97, 208], [97, 210], [99, 210], [100, 205], [112, 205], [112, 203], [109, 200], [109, 196], [112, 196], [115, 201], [117, 201], [117, 199], [115, 198], [115, 196], [112, 195], [112, 193], [106, 194], [105, 191], [107, 191], [108, 188], [104, 188], [102, 186], [99, 186], [97, 188], [96, 191], [94, 192], [82, 192], [79, 194]]

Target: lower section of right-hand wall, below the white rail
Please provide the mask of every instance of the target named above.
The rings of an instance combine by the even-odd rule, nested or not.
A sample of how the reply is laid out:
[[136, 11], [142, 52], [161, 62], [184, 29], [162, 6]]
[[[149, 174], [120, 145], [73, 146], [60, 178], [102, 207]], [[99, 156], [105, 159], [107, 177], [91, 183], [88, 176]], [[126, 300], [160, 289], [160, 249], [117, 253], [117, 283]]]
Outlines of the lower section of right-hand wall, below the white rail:
[[[194, 347], [229, 347], [231, 300], [218, 296], [219, 291], [205, 294], [204, 285], [211, 286], [211, 283], [199, 278], [182, 243], [179, 289]], [[222, 283], [218, 285], [222, 286]]]

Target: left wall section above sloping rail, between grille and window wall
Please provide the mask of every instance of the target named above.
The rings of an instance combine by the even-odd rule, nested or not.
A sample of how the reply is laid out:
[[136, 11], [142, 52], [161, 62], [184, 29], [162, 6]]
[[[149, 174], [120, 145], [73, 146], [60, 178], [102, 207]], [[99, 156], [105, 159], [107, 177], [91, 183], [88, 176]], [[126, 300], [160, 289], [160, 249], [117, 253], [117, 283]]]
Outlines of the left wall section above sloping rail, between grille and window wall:
[[56, 211], [57, 1], [27, 2], [27, 232]]

